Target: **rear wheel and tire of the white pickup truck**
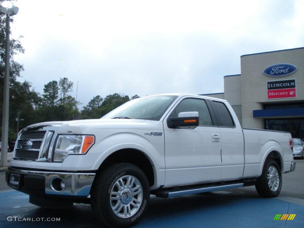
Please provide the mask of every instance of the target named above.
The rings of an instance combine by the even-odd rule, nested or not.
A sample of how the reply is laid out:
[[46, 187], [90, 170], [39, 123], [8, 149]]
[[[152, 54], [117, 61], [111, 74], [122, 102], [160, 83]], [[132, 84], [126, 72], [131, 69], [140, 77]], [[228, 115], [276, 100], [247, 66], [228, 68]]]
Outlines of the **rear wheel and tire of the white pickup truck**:
[[282, 188], [282, 174], [276, 161], [272, 159], [267, 159], [265, 161], [262, 175], [257, 178], [255, 188], [262, 197], [271, 198], [280, 194]]

